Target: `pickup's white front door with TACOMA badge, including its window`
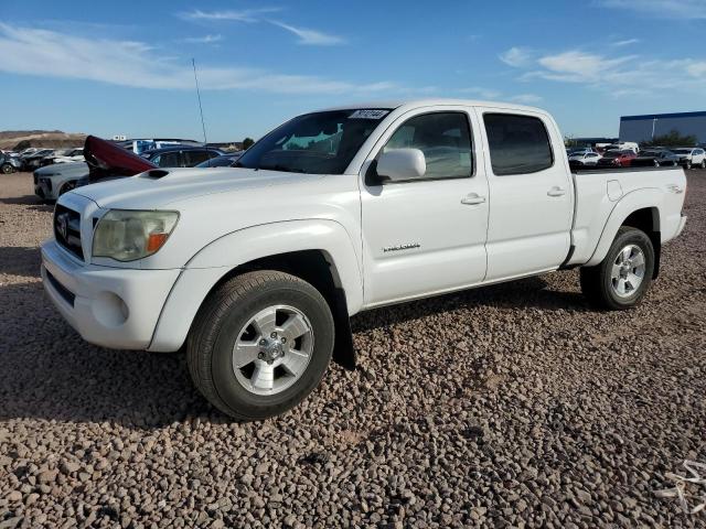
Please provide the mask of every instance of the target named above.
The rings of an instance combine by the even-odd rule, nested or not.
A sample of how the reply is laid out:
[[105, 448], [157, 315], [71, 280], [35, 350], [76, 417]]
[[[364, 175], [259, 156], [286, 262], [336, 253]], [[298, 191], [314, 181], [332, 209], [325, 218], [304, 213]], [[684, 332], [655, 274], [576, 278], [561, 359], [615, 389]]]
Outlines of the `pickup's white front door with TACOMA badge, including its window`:
[[421, 180], [362, 187], [366, 306], [483, 280], [490, 197], [473, 137], [471, 111], [435, 107], [402, 116], [381, 138], [375, 158], [419, 149], [427, 171]]

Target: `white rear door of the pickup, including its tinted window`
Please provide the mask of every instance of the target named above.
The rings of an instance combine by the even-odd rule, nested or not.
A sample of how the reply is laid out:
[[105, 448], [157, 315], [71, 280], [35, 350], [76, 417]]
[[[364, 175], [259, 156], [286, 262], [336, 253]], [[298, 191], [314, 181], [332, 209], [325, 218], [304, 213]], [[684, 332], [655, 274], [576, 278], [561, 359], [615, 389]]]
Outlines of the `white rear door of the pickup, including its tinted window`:
[[570, 173], [558, 128], [545, 115], [478, 109], [492, 196], [486, 281], [556, 269], [567, 257], [574, 216]]

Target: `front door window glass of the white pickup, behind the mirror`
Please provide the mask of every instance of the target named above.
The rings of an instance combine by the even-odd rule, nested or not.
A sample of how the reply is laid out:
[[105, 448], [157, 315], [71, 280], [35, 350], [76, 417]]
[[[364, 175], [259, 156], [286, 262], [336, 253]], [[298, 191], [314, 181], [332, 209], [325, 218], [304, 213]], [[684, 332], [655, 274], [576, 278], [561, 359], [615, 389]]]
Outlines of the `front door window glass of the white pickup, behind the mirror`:
[[473, 173], [468, 117], [461, 112], [435, 112], [405, 121], [383, 152], [419, 149], [427, 162], [427, 179], [460, 179]]

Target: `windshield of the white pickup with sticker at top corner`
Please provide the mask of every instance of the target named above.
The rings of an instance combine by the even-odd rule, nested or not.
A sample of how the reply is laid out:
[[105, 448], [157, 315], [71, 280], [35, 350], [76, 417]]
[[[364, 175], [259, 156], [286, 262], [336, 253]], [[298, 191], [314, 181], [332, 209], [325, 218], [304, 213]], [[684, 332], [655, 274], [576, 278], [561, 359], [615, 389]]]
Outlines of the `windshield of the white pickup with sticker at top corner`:
[[331, 110], [299, 116], [250, 147], [234, 166], [342, 174], [389, 110]]

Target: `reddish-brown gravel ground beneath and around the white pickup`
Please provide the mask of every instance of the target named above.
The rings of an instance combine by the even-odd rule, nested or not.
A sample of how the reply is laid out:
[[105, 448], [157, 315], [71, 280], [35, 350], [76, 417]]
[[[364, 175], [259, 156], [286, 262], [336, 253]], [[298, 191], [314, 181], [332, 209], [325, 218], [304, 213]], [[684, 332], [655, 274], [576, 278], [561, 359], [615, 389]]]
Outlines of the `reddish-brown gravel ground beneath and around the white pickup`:
[[576, 271], [354, 319], [360, 367], [226, 420], [184, 358], [85, 344], [44, 298], [52, 208], [0, 176], [0, 528], [704, 527], [653, 492], [706, 461], [706, 172], [646, 301]]

